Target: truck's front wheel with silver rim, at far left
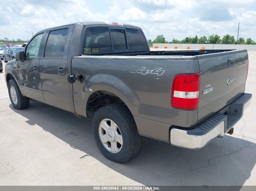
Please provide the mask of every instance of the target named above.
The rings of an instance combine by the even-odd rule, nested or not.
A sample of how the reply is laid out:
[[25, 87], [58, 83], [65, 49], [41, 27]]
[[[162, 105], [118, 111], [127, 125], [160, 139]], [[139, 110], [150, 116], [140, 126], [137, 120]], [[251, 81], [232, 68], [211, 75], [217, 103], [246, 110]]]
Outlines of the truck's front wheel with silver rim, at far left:
[[[13, 91], [15, 91], [15, 93], [13, 93]], [[30, 99], [21, 94], [18, 84], [14, 79], [11, 79], [8, 82], [8, 92], [10, 100], [12, 102], [12, 107], [14, 107], [17, 110], [22, 110], [29, 106]], [[13, 100], [12, 95], [14, 95], [13, 97], [16, 97], [16, 99]]]

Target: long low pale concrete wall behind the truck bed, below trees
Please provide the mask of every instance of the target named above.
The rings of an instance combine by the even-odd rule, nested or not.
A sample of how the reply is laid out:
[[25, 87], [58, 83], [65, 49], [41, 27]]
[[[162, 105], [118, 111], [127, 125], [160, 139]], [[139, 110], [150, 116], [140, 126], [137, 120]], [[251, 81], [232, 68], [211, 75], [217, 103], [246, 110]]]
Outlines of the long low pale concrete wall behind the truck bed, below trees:
[[178, 47], [178, 49], [187, 49], [187, 47], [190, 47], [190, 49], [201, 49], [201, 47], [204, 47], [204, 49], [247, 49], [249, 51], [256, 51], [256, 45], [246, 45], [246, 44], [168, 44], [168, 43], [153, 43], [153, 48], [155, 46], [158, 46], [158, 48], [164, 48], [167, 46], [167, 48], [174, 48], [175, 46]]

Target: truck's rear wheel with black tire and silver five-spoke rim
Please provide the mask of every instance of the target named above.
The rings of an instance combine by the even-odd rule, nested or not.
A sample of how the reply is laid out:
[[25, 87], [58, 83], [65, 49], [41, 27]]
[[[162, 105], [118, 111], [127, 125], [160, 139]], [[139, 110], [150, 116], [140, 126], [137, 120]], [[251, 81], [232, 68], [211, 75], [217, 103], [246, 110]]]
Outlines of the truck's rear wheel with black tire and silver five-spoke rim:
[[[114, 144], [114, 142], [108, 142], [103, 144], [100, 138], [102, 132], [101, 130], [103, 129], [100, 127], [100, 124], [106, 122], [106, 120], [114, 122], [114, 126], [117, 126], [119, 129], [119, 131], [117, 130], [116, 132], [120, 132], [122, 137], [122, 145], [119, 144], [119, 148], [117, 148], [118, 151], [116, 152], [112, 152], [111, 145], [112, 143]], [[135, 120], [126, 106], [121, 104], [110, 104], [101, 107], [93, 117], [92, 128], [95, 142], [101, 153], [106, 158], [112, 161], [116, 161], [118, 163], [126, 163], [128, 161], [131, 161], [139, 154], [142, 147], [142, 136], [138, 134]], [[107, 135], [109, 132], [106, 132], [105, 130], [103, 132], [105, 132], [105, 137], [108, 137]], [[104, 133], [101, 136], [104, 136]], [[117, 133], [114, 134], [114, 137], [117, 138], [118, 136], [120, 135], [117, 135]], [[112, 136], [110, 137], [112, 138]], [[111, 145], [109, 143], [111, 143]], [[108, 147], [104, 145], [108, 145]], [[111, 148], [109, 148], [110, 146]]]

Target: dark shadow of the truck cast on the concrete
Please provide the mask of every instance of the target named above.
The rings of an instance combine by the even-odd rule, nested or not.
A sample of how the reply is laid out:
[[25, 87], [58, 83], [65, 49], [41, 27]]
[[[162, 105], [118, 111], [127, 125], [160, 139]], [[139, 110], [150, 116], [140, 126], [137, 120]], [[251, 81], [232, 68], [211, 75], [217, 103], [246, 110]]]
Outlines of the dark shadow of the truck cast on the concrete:
[[[188, 150], [144, 138], [140, 154], [126, 164], [105, 158], [92, 136], [91, 119], [78, 119], [72, 113], [31, 102], [26, 110], [14, 112], [28, 119], [29, 125], [63, 140], [85, 154], [79, 160], [93, 157], [125, 177], [144, 185], [243, 185], [256, 163], [256, 145], [233, 136], [216, 138], [201, 150]], [[36, 117], [35, 117], [36, 116]], [[72, 156], [76, 157], [76, 156]], [[69, 156], [70, 158], [70, 156]]]

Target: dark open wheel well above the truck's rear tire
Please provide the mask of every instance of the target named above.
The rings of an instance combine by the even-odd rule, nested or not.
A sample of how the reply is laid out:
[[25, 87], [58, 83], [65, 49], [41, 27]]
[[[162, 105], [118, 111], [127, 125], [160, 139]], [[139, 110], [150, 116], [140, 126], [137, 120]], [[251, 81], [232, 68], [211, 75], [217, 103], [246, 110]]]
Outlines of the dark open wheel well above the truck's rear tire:
[[95, 113], [101, 107], [113, 103], [125, 105], [125, 103], [118, 96], [109, 91], [95, 91], [88, 98], [87, 112]]

